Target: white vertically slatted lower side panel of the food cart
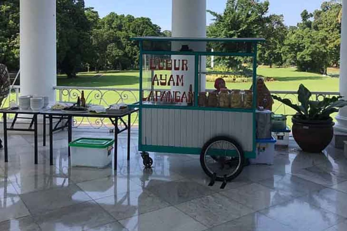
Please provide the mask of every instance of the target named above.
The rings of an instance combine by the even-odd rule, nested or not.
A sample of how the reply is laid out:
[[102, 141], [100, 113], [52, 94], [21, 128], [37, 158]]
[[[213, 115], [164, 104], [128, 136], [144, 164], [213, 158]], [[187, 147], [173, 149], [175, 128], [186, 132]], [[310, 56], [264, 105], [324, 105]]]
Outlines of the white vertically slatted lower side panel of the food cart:
[[142, 144], [202, 148], [218, 135], [253, 150], [253, 114], [209, 110], [142, 108]]

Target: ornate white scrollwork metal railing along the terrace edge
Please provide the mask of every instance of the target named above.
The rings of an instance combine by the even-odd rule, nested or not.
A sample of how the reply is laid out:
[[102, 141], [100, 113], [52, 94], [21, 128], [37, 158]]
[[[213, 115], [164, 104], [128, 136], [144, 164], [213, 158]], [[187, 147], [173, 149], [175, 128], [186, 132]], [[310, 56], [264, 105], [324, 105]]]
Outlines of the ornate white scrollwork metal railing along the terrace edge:
[[[100, 104], [108, 107], [111, 104], [127, 103], [132, 104], [138, 102], [139, 90], [137, 88], [95, 88], [95, 87], [54, 87], [57, 91], [57, 100], [66, 102], [75, 102], [77, 97], [81, 95], [82, 90], [85, 92], [87, 103]], [[19, 86], [14, 86], [11, 94], [2, 102], [2, 107], [8, 107], [10, 103], [17, 104], [20, 94]], [[296, 91], [272, 91], [271, 94], [288, 98], [293, 103], [298, 103]], [[323, 97], [338, 96], [339, 92], [312, 92], [312, 100], [322, 100]], [[272, 111], [276, 114], [289, 115], [287, 123], [291, 125], [291, 116], [295, 111], [288, 106], [275, 100]], [[132, 116], [133, 125], [138, 123], [138, 114]], [[112, 129], [112, 125], [105, 119], [92, 118], [75, 118], [74, 127], [92, 127]]]

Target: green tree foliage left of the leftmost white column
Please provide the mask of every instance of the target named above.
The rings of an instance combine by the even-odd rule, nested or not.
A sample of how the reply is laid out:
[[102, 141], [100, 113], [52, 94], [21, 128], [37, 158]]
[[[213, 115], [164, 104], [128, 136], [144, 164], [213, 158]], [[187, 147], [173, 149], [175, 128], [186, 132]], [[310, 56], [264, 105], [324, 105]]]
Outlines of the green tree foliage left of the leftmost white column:
[[0, 63], [19, 69], [19, 0], [0, 1]]

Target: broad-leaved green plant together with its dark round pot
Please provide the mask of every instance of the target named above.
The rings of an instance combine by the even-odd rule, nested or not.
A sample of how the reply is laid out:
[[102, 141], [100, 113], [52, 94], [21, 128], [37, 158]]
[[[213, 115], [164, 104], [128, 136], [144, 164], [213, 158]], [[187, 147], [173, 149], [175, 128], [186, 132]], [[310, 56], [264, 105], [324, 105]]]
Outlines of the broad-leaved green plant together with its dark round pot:
[[331, 142], [334, 122], [330, 115], [347, 105], [343, 96], [324, 97], [322, 101], [310, 100], [311, 92], [304, 85], [297, 91], [301, 105], [291, 103], [289, 99], [272, 97], [297, 111], [291, 121], [296, 143], [305, 152], [321, 152]]

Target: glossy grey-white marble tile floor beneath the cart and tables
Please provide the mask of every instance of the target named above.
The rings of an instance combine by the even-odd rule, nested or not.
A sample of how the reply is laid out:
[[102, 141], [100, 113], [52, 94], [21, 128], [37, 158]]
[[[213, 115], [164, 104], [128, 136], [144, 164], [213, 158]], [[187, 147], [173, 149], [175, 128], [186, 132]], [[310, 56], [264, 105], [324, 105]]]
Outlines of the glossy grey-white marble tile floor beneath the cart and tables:
[[[309, 154], [295, 144], [276, 151], [273, 166], [252, 165], [219, 189], [207, 186], [197, 156], [151, 153], [144, 169], [133, 132], [131, 160], [119, 137], [118, 170], [69, 166], [66, 132], [55, 135], [54, 166], [33, 137], [9, 137], [0, 151], [1, 231], [346, 231], [347, 159], [329, 147]], [[74, 132], [107, 137], [106, 132]]]

